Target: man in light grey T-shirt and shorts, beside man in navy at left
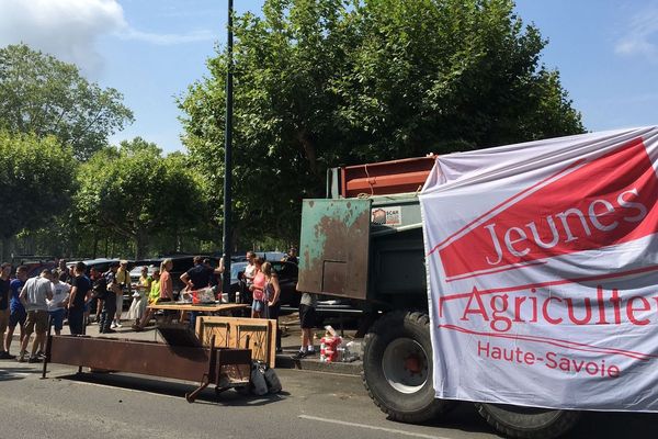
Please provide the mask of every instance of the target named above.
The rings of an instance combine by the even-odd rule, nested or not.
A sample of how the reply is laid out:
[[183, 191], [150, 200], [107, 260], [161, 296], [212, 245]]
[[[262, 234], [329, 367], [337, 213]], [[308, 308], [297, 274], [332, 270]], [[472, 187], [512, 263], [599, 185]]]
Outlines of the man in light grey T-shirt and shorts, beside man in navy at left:
[[20, 295], [21, 302], [27, 311], [25, 322], [25, 337], [21, 342], [21, 354], [19, 361], [25, 361], [25, 351], [32, 333], [36, 333], [32, 342], [32, 354], [27, 362], [37, 363], [42, 359], [37, 356], [38, 349], [43, 349], [48, 330], [48, 301], [53, 300], [53, 283], [50, 282], [50, 270], [44, 270], [37, 278], [29, 279]]

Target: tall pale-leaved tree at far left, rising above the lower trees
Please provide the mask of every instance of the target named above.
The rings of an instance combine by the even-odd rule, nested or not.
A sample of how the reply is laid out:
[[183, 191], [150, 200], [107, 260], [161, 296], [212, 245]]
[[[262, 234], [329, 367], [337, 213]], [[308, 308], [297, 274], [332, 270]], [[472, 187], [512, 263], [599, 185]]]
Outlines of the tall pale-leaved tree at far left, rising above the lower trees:
[[84, 79], [75, 65], [24, 44], [0, 48], [0, 128], [56, 136], [87, 159], [133, 122], [113, 88]]

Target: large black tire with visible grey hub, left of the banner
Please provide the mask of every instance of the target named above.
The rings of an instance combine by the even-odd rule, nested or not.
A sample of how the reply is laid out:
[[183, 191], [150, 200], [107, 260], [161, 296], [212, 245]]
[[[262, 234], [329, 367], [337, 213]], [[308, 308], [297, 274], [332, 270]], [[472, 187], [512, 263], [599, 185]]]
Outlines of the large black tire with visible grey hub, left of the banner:
[[375, 323], [364, 338], [362, 379], [393, 420], [422, 423], [455, 404], [434, 397], [430, 318], [423, 313], [393, 312]]

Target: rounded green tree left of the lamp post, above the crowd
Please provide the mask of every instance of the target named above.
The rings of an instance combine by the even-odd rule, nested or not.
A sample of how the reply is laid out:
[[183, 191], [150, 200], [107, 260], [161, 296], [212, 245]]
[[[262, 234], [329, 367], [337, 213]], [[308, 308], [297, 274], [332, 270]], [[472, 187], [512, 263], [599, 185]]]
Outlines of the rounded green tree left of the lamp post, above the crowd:
[[137, 259], [156, 236], [180, 236], [204, 217], [200, 177], [185, 156], [163, 158], [155, 144], [139, 137], [98, 151], [81, 165], [78, 180], [80, 223], [89, 232], [134, 244]]

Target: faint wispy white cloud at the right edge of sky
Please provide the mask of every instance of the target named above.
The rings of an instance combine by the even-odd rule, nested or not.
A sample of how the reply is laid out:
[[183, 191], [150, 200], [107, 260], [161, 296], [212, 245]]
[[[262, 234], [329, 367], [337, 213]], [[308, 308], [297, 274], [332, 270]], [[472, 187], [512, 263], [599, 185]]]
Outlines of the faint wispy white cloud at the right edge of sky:
[[658, 7], [644, 9], [633, 15], [628, 32], [616, 42], [614, 52], [658, 61]]

